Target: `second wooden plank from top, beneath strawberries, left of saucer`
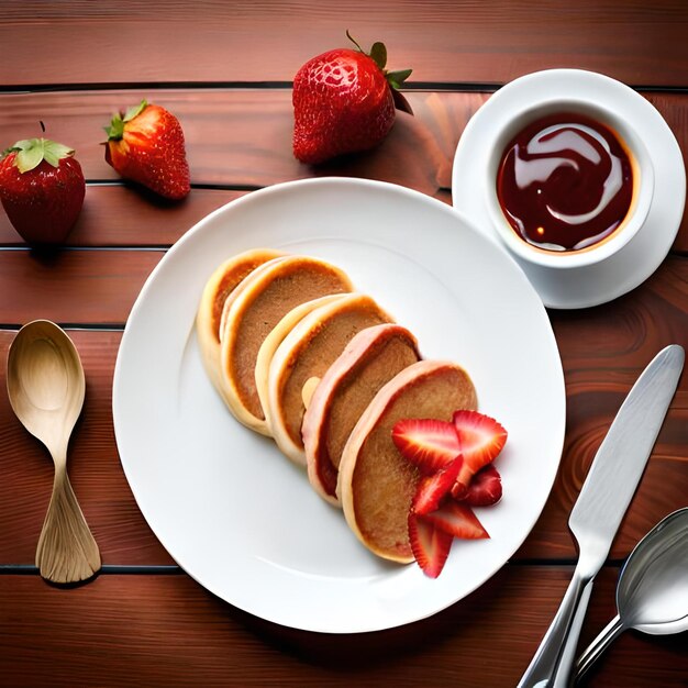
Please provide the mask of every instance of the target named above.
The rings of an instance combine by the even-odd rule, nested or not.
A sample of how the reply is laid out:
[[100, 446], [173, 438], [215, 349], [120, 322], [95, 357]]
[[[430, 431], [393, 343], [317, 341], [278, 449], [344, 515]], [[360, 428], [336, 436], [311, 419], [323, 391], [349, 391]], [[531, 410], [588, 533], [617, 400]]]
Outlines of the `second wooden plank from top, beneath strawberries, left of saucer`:
[[[482, 93], [412, 93], [415, 116], [399, 113], [390, 136], [374, 152], [313, 168], [291, 151], [289, 90], [67, 91], [0, 96], [0, 141], [8, 146], [38, 135], [77, 152], [87, 179], [118, 180], [104, 160], [102, 126], [112, 113], [151, 98], [181, 122], [191, 180], [234, 188], [339, 175], [392, 181], [434, 195], [450, 188], [456, 142]], [[88, 200], [88, 199], [87, 199]]]

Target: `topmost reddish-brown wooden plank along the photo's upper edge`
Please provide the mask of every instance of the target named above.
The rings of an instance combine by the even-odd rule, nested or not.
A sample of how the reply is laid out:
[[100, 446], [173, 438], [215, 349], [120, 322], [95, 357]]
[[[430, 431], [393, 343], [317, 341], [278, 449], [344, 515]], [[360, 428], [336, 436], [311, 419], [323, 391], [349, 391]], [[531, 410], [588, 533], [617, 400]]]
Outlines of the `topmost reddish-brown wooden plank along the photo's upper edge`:
[[[635, 85], [687, 85], [681, 0], [356, 0], [345, 20], [339, 4], [313, 0], [206, 0], [192, 8], [177, 0], [164, 11], [143, 0], [4, 4], [4, 86], [290, 81], [310, 57], [348, 45], [347, 27], [366, 47], [385, 41], [390, 67], [412, 67], [421, 82], [501, 84], [580, 67]], [[56, 58], [65, 54], [69, 59]]]

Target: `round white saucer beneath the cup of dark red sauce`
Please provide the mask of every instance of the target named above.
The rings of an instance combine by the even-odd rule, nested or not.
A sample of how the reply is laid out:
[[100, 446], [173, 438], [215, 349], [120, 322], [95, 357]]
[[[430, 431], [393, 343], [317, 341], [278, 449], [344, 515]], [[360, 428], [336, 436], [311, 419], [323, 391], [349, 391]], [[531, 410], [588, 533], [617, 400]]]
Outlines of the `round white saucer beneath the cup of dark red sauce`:
[[[488, 156], [510, 113], [561, 98], [587, 99], [623, 118], [643, 138], [655, 173], [647, 220], [614, 256], [576, 269], [529, 264], [517, 257], [550, 308], [574, 309], [611, 301], [647, 279], [659, 267], [678, 232], [686, 200], [686, 171], [676, 137], [657, 110], [628, 86], [592, 71], [547, 69], [514, 79], [498, 90], [470, 119], [454, 157], [454, 208], [503, 251], [487, 209]], [[510, 254], [511, 255], [511, 254]]]

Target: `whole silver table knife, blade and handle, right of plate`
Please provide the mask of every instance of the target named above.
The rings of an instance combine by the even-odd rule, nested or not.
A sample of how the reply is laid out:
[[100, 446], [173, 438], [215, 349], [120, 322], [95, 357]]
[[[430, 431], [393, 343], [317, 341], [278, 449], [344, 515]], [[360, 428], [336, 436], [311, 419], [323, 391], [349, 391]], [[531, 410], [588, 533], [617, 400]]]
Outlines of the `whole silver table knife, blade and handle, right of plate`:
[[[559, 610], [518, 688], [559, 688], [569, 683], [579, 625], [572, 622], [586, 587], [601, 568], [635, 493], [684, 368], [684, 349], [662, 349], [637, 378], [600, 445], [568, 526], [578, 543], [578, 564]], [[576, 634], [574, 637], [573, 633]], [[565, 647], [566, 661], [563, 659]]]

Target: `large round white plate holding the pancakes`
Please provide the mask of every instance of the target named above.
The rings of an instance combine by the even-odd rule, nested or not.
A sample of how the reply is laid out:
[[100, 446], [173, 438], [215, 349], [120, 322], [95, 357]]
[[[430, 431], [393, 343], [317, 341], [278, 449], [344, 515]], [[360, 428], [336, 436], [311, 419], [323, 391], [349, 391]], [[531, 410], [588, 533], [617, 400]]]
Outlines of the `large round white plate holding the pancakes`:
[[[344, 268], [417, 334], [425, 357], [463, 364], [480, 408], [510, 432], [504, 497], [479, 513], [491, 540], [455, 542], [439, 579], [365, 550], [302, 469], [230, 417], [206, 377], [193, 331], [201, 290], [225, 257], [256, 246]], [[507, 562], [552, 487], [565, 392], [537, 295], [458, 213], [382, 182], [315, 179], [234, 201], [167, 253], [122, 337], [113, 413], [136, 501], [186, 572], [263, 619], [353, 633], [428, 617]]]

